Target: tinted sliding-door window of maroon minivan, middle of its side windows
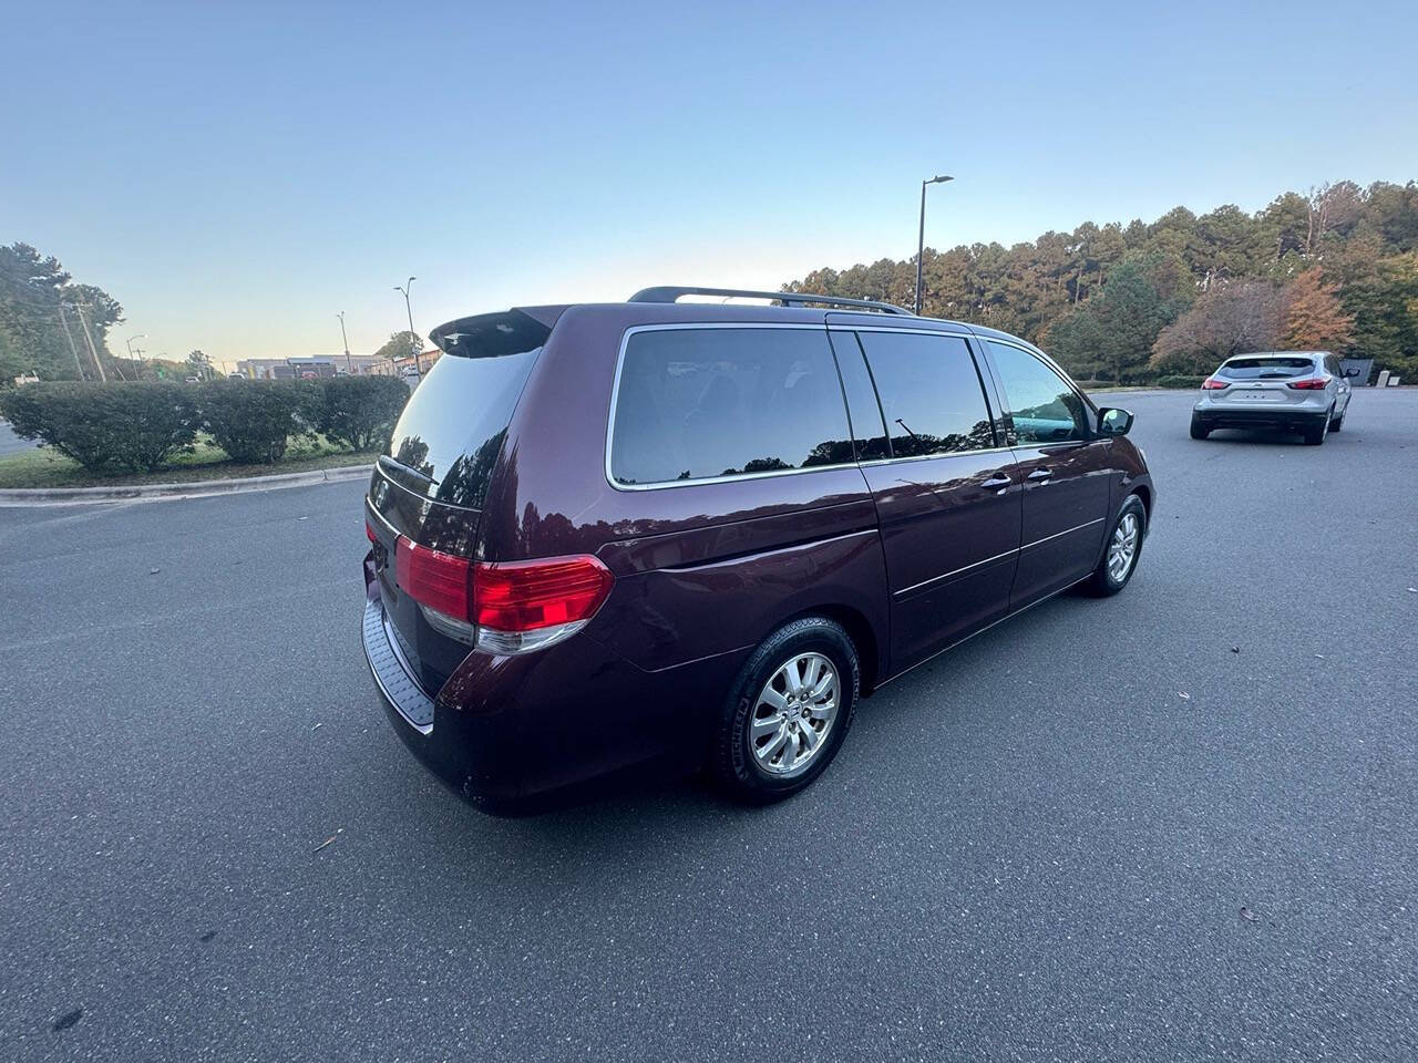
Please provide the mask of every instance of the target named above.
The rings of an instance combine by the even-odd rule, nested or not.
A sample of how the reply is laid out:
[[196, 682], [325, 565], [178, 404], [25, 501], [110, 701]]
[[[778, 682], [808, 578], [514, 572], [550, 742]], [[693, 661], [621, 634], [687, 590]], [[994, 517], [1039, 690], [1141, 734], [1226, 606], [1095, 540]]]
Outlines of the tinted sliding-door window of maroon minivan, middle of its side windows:
[[970, 347], [959, 336], [859, 333], [895, 458], [994, 446]]

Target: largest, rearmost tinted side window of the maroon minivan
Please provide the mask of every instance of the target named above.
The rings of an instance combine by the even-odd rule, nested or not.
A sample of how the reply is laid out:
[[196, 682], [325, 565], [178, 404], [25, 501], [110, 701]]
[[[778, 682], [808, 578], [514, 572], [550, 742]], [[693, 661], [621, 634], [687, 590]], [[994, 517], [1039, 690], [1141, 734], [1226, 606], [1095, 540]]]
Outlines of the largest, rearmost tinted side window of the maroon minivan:
[[661, 329], [625, 346], [611, 475], [621, 483], [851, 462], [821, 329]]

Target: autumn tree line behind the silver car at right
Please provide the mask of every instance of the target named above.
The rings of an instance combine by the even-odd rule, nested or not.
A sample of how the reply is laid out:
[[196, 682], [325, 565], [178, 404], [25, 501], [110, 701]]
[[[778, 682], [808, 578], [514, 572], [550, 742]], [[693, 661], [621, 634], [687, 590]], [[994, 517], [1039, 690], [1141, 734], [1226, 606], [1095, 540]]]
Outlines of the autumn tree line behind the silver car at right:
[[[1337, 181], [1153, 223], [927, 248], [923, 313], [1003, 329], [1081, 378], [1210, 373], [1251, 350], [1332, 350], [1418, 377], [1418, 184]], [[916, 259], [815, 269], [786, 291], [909, 306]]]

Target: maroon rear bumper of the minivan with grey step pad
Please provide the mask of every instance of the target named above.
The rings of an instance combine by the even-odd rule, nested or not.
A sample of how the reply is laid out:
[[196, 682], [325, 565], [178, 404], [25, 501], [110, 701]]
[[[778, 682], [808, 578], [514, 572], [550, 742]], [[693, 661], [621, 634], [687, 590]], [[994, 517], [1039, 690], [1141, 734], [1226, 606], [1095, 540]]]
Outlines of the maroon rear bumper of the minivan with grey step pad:
[[647, 672], [583, 632], [525, 656], [469, 653], [430, 696], [383, 612], [369, 595], [364, 658], [390, 726], [440, 781], [493, 815], [542, 811], [654, 761], [698, 765], [750, 652]]

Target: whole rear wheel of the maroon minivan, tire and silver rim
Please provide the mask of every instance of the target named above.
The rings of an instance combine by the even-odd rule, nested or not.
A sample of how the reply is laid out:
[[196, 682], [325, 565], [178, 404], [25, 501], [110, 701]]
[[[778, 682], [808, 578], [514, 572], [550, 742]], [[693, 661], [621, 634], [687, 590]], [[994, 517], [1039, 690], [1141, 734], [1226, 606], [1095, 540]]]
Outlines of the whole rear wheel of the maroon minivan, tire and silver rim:
[[766, 804], [821, 775], [852, 726], [861, 663], [841, 625], [807, 617], [744, 663], [715, 733], [712, 767], [735, 797]]

